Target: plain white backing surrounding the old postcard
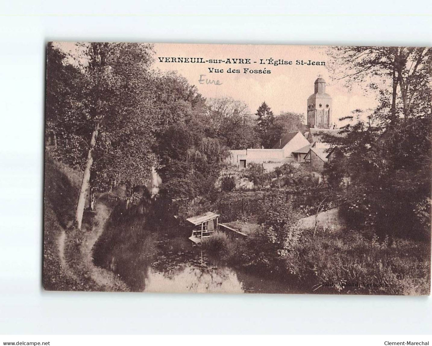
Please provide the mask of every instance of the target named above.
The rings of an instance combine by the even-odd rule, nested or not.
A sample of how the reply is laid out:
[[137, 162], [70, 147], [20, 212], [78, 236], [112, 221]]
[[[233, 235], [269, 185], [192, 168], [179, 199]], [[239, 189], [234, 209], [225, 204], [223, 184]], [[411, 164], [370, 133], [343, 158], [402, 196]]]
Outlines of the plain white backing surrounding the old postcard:
[[0, 1], [0, 333], [432, 333], [429, 297], [41, 289], [47, 41], [430, 46], [431, 13], [430, 0]]

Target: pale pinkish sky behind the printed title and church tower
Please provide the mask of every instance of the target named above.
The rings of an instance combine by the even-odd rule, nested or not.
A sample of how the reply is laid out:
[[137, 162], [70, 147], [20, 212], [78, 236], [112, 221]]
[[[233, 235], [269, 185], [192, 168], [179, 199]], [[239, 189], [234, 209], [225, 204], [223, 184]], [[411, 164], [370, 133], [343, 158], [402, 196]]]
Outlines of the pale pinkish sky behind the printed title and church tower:
[[[76, 50], [75, 43], [56, 44], [64, 51]], [[251, 45], [251, 44], [154, 44], [156, 51], [153, 67], [161, 71], [177, 71], [191, 85], [195, 85], [205, 98], [232, 97], [245, 102], [251, 113], [255, 113], [265, 101], [275, 115], [281, 111], [306, 114], [306, 100], [314, 93], [314, 81], [321, 76], [327, 82], [326, 92], [333, 98], [332, 123], [355, 109], [373, 109], [377, 105], [376, 95], [365, 94], [362, 85], [347, 88], [345, 80], [330, 75], [332, 61], [326, 54], [326, 46]], [[228, 60], [232, 63], [174, 63], [164, 58], [195, 57], [203, 60]], [[163, 62], [160, 62], [162, 58]], [[235, 64], [234, 59], [250, 59], [251, 64]], [[262, 59], [266, 64], [260, 64]], [[268, 60], [266, 60], [268, 59]], [[292, 65], [268, 64], [269, 60], [292, 61]], [[307, 63], [324, 62], [325, 65], [296, 65], [297, 60]], [[254, 63], [254, 62], [257, 63]], [[209, 68], [224, 69], [222, 73], [210, 72]], [[240, 73], [227, 70], [240, 69]], [[243, 73], [244, 68], [264, 69], [271, 73]], [[209, 84], [206, 82], [209, 81]], [[201, 80], [201, 82], [200, 82]], [[217, 82], [219, 81], [219, 82]], [[219, 85], [216, 85], [219, 84]], [[366, 112], [365, 115], [368, 113]]]

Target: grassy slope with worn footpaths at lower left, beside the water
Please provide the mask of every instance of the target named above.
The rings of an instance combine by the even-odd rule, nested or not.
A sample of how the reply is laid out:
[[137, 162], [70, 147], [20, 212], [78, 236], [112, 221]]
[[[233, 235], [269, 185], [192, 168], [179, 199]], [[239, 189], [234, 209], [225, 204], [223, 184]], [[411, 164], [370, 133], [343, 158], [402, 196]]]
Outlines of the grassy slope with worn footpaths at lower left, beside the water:
[[86, 212], [83, 229], [74, 230], [76, 198], [82, 173], [60, 164], [47, 154], [44, 195], [43, 286], [47, 290], [125, 291], [127, 286], [92, 262], [92, 247], [111, 212], [103, 202], [95, 213]]

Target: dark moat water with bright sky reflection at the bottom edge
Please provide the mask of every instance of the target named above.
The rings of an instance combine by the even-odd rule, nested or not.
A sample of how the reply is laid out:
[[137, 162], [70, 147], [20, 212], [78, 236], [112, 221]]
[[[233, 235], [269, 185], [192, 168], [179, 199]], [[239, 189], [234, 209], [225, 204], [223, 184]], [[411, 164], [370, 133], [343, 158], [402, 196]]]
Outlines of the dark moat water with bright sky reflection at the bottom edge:
[[[167, 293], [294, 293], [286, 283], [229, 267], [209, 256], [174, 217], [146, 202], [118, 206], [95, 245], [96, 265], [117, 274], [132, 291]], [[160, 210], [160, 206], [159, 206]]]

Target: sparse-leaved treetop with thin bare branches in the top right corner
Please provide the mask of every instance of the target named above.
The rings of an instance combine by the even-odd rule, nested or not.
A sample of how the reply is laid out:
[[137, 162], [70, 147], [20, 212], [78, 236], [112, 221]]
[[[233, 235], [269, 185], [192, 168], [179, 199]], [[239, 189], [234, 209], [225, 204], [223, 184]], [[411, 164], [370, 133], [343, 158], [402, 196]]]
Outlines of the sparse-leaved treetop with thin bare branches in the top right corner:
[[[346, 46], [332, 47], [329, 54], [338, 62], [332, 64], [337, 79], [346, 79], [348, 86], [356, 82], [381, 88], [381, 96], [389, 96], [389, 111], [384, 116], [387, 121], [394, 122], [400, 116], [406, 120], [413, 109], [416, 116], [430, 113], [432, 48]], [[342, 69], [336, 67], [341, 65]], [[382, 86], [382, 77], [391, 91]]]

